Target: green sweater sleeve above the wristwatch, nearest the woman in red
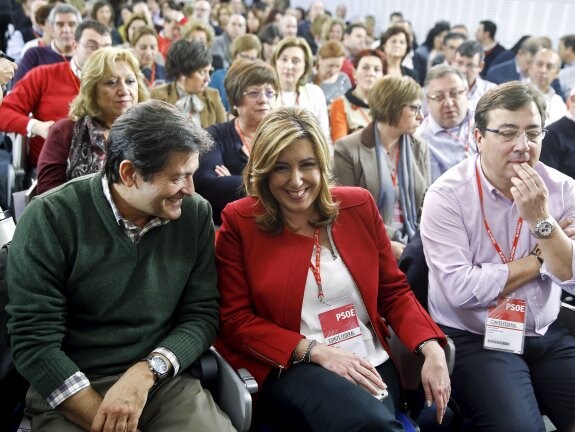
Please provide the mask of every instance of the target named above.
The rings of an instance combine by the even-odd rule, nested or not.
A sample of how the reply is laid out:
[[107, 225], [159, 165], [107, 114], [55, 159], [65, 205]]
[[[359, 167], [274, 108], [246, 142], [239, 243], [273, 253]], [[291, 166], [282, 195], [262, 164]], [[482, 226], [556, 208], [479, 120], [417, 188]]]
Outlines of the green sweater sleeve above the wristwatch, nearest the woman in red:
[[193, 220], [196, 258], [174, 312], [175, 326], [157, 345], [174, 353], [180, 370], [187, 369], [214, 343], [218, 331], [218, 288], [214, 259], [215, 230], [209, 204], [194, 198], [198, 205]]

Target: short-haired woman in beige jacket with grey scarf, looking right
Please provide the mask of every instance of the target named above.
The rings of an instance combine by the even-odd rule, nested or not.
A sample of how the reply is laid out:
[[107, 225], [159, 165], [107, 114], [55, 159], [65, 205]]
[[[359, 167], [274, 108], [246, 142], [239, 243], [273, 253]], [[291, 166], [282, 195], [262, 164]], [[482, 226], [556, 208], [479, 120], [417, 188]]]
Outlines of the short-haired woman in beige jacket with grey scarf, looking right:
[[423, 119], [422, 97], [412, 78], [382, 78], [369, 95], [373, 121], [335, 144], [334, 176], [342, 185], [371, 192], [396, 259], [418, 230], [431, 184], [427, 144], [413, 137]]

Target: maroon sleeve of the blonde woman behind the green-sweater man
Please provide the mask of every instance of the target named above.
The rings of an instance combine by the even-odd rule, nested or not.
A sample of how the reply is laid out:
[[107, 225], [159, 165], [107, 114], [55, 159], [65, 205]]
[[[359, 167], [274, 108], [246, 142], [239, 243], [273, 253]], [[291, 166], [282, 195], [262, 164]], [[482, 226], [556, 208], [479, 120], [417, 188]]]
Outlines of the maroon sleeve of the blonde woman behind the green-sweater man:
[[66, 183], [73, 128], [69, 119], [60, 120], [50, 128], [38, 159], [38, 194]]

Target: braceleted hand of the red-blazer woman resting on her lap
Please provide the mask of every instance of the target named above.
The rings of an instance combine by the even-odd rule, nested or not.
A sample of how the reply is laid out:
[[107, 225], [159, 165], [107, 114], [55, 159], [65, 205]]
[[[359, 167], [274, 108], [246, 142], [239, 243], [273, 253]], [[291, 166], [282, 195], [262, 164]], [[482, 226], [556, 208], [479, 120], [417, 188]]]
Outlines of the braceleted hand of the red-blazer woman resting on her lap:
[[318, 343], [311, 351], [311, 361], [365, 388], [373, 395], [387, 389], [369, 361], [339, 348]]

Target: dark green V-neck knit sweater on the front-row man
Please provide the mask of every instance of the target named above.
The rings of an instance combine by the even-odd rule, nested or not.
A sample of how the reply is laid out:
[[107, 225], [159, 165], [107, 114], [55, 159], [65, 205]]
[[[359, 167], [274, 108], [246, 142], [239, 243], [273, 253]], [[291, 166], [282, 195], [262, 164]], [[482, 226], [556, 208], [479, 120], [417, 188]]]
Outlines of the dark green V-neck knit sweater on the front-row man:
[[178, 220], [134, 244], [101, 181], [82, 177], [34, 199], [8, 254], [14, 362], [44, 397], [77, 371], [122, 373], [158, 346], [183, 370], [216, 336], [209, 204], [186, 197]]

